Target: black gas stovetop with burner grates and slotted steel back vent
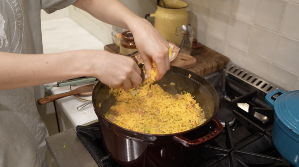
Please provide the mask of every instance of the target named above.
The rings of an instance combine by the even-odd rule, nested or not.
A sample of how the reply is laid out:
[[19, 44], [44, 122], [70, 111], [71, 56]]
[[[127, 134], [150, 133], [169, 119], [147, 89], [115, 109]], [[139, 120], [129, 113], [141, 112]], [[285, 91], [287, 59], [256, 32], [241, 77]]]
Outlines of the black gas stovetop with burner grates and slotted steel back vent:
[[[218, 92], [220, 104], [216, 117], [224, 130], [213, 142], [202, 147], [189, 166], [292, 166], [273, 145], [274, 111], [265, 102], [268, 92], [283, 88], [231, 62], [223, 70], [204, 78]], [[210, 131], [214, 129], [210, 127]], [[106, 153], [97, 122], [77, 126], [75, 131], [98, 166], [120, 166]]]

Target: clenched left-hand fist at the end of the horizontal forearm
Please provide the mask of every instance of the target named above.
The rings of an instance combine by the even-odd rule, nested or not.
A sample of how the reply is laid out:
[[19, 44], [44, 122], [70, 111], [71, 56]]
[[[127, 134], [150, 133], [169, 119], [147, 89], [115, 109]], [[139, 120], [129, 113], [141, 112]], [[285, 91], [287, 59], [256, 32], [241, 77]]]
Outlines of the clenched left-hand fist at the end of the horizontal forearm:
[[132, 58], [107, 51], [91, 52], [95, 55], [92, 58], [93, 76], [103, 84], [115, 88], [122, 85], [125, 91], [141, 84], [141, 70]]

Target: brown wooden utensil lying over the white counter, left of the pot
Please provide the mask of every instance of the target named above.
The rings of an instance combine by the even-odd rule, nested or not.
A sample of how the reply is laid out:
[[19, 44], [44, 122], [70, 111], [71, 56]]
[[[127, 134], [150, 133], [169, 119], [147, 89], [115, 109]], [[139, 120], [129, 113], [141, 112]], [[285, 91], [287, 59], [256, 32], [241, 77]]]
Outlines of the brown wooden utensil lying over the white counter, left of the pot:
[[86, 85], [86, 86], [80, 86], [72, 91], [60, 93], [57, 95], [51, 95], [44, 98], [40, 98], [37, 102], [38, 104], [46, 104], [51, 101], [58, 100], [60, 98], [64, 98], [71, 95], [91, 95], [93, 90], [94, 84]]

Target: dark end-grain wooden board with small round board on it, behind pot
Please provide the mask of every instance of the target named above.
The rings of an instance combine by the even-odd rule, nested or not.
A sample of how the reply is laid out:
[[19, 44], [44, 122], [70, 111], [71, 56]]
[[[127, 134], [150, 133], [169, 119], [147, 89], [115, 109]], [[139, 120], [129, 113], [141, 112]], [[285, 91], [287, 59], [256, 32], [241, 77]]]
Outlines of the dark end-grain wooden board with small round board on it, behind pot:
[[[106, 45], [104, 47], [104, 50], [116, 54], [119, 53], [119, 47], [117, 47], [115, 44]], [[192, 49], [191, 55], [192, 56], [180, 53], [175, 60], [170, 62], [170, 65], [179, 66], [195, 72], [198, 75], [204, 76], [223, 69], [223, 67], [226, 66], [226, 64], [229, 62], [228, 57], [225, 57], [224, 55], [204, 45], [202, 45], [201, 48]], [[196, 63], [194, 66], [194, 59], [192, 59], [191, 57], [196, 59]], [[188, 61], [188, 63], [184, 62], [186, 60]], [[135, 61], [137, 60], [135, 59]], [[189, 63], [190, 66], [188, 66]]]

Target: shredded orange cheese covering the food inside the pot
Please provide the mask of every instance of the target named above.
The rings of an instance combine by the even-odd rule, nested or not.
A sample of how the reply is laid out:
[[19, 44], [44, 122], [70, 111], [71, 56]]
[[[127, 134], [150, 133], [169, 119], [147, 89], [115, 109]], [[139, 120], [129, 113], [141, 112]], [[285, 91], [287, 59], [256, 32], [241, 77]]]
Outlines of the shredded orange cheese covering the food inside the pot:
[[154, 63], [153, 67], [150, 78], [137, 89], [110, 89], [116, 103], [105, 114], [106, 119], [120, 127], [151, 134], [179, 133], [202, 125], [207, 119], [194, 97], [188, 92], [172, 95], [153, 84], [157, 75]]

